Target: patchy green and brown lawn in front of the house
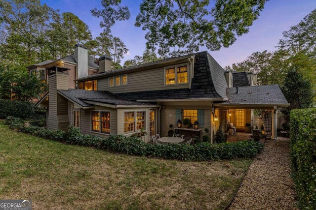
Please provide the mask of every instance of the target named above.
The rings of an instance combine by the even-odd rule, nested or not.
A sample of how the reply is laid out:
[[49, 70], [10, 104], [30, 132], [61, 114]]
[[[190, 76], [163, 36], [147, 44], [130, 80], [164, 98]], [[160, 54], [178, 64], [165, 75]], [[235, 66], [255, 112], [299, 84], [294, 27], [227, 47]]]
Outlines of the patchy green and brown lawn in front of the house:
[[183, 162], [64, 145], [0, 121], [0, 198], [34, 209], [223, 209], [249, 159]]

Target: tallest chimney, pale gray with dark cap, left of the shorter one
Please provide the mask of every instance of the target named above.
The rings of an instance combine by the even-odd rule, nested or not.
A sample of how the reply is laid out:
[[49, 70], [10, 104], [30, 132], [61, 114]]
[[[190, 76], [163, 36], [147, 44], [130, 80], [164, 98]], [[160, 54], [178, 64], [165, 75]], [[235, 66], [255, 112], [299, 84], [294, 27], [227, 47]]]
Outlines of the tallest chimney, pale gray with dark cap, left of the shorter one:
[[88, 76], [88, 48], [82, 44], [75, 45], [78, 79]]

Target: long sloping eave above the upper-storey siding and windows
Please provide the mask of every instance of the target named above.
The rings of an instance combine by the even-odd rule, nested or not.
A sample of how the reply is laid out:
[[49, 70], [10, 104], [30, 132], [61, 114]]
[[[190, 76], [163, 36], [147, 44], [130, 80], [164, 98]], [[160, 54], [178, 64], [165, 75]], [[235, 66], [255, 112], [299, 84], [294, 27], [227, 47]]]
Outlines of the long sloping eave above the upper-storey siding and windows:
[[190, 54], [187, 56], [183, 56], [181, 58], [173, 58], [173, 59], [163, 60], [161, 62], [156, 62], [156, 63], [155, 62], [154, 63], [145, 63], [142, 65], [131, 66], [131, 67], [128, 67], [125, 69], [113, 70], [113, 71], [109, 71], [109, 72], [102, 73], [102, 74], [96, 74], [96, 75], [91, 75], [91, 76], [84, 77], [84, 78], [79, 78], [79, 79], [76, 79], [75, 81], [82, 82], [82, 81], [87, 81], [87, 80], [91, 80], [91, 79], [100, 79], [100, 78], [104, 78], [104, 77], [110, 77], [110, 76], [116, 75], [116, 74], [124, 74], [125, 72], [129, 72], [129, 71], [133, 71], [133, 70], [146, 70], [148, 67], [159, 66], [159, 65], [162, 65], [165, 63], [175, 62], [178, 60], [185, 60], [185, 59], [191, 58], [193, 55], [195, 55], [195, 54]]

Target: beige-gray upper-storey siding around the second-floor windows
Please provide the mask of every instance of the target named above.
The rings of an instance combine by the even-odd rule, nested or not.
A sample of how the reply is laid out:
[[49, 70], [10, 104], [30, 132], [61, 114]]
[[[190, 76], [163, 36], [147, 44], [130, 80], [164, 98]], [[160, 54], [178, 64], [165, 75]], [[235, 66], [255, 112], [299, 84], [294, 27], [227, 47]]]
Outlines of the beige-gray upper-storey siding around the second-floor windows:
[[[188, 63], [181, 63], [188, 64]], [[188, 82], [190, 78], [190, 65], [188, 64]], [[165, 85], [164, 68], [155, 68], [127, 74], [127, 85], [109, 87], [109, 78], [98, 80], [98, 90], [108, 90], [113, 93], [137, 92], [146, 90], [170, 90], [189, 88], [189, 83], [180, 85]]]

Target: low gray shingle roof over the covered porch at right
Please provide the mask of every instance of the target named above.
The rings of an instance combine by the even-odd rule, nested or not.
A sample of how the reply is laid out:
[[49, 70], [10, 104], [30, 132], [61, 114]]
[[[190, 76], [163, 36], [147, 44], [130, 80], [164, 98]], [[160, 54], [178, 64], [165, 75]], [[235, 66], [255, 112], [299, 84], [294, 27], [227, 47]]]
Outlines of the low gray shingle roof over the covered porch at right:
[[228, 100], [221, 102], [221, 105], [288, 104], [278, 85], [238, 87], [239, 94], [236, 88], [228, 88], [226, 91]]

